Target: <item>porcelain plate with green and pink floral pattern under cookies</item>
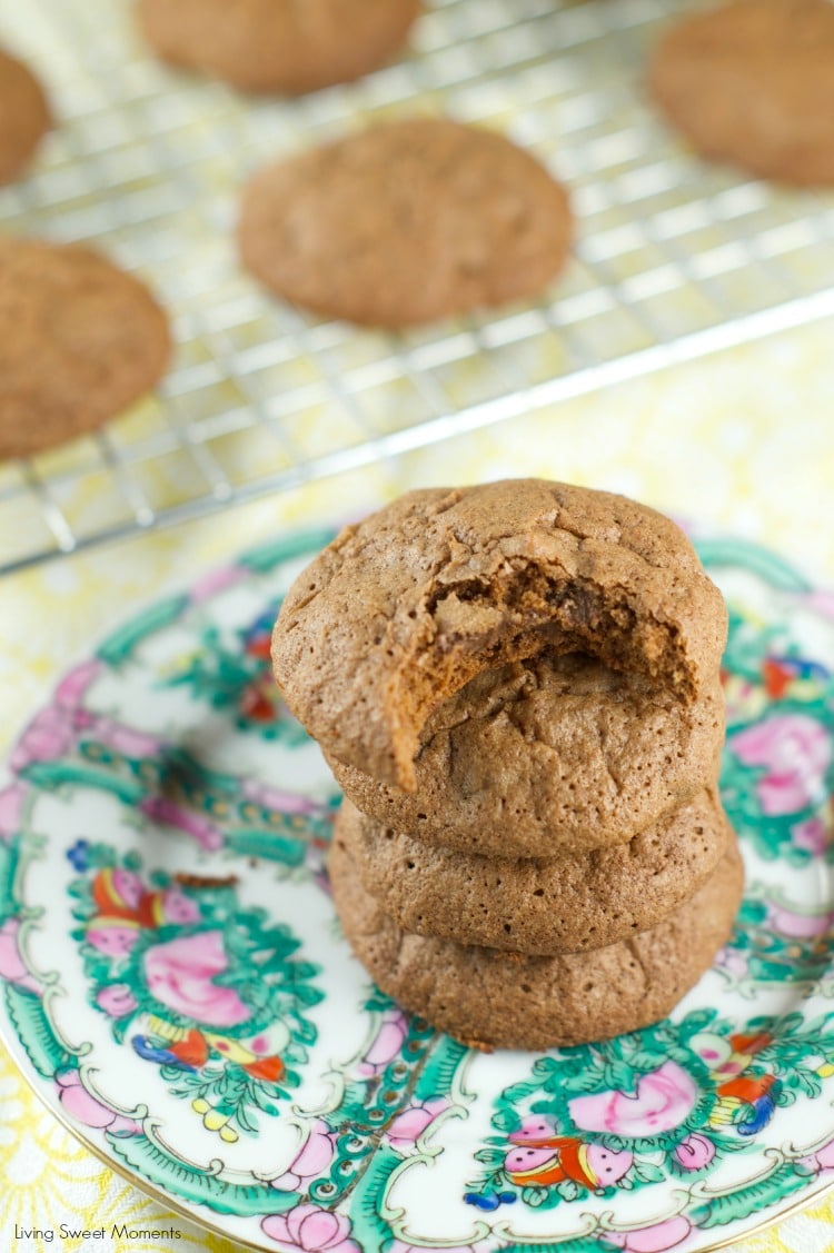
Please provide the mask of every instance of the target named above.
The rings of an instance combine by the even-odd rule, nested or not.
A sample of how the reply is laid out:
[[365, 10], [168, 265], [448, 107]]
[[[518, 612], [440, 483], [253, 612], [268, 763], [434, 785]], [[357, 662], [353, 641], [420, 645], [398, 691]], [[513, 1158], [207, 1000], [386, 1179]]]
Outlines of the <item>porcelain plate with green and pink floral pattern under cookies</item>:
[[673, 1016], [547, 1054], [409, 1019], [342, 940], [337, 804], [272, 685], [329, 539], [243, 556], [112, 635], [0, 792], [1, 1020], [46, 1104], [188, 1217], [288, 1253], [686, 1253], [834, 1172], [834, 596], [737, 543], [724, 799], [747, 887]]

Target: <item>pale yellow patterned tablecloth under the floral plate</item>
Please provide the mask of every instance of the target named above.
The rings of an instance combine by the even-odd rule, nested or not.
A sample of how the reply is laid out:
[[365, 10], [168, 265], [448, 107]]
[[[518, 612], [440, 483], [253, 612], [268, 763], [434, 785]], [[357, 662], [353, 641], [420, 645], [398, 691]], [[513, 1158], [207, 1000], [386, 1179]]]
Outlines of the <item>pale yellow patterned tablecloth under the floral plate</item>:
[[[396, 462], [0, 583], [0, 748], [75, 658], [161, 591], [282, 528], [367, 509], [415, 485], [542, 474], [623, 491], [781, 551], [834, 585], [834, 327], [820, 325], [495, 426]], [[60, 1224], [176, 1227], [181, 1235], [61, 1239]], [[38, 1228], [40, 1235], [21, 1233]], [[50, 1233], [54, 1235], [50, 1238]], [[231, 1253], [92, 1157], [0, 1051], [0, 1253]], [[829, 1199], [734, 1244], [829, 1253]]]

